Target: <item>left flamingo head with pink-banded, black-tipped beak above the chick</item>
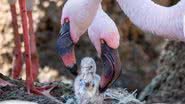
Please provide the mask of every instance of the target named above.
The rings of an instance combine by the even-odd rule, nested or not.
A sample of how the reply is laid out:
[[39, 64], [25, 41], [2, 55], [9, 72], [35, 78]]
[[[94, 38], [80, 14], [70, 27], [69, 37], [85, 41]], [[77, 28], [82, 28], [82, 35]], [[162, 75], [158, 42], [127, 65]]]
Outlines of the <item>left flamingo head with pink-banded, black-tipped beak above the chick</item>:
[[77, 75], [77, 65], [74, 46], [90, 26], [101, 1], [68, 0], [63, 7], [62, 27], [56, 47], [64, 66], [75, 76]]

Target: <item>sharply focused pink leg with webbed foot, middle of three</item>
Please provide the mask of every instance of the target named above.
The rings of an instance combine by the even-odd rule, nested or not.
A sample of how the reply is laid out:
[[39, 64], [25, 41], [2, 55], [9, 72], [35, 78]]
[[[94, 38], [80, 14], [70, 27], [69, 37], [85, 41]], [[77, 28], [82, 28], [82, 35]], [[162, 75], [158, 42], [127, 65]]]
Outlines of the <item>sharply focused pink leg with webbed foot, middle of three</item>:
[[[28, 2], [31, 0], [27, 0]], [[32, 14], [31, 12], [27, 11], [28, 8], [26, 8], [26, 0], [19, 0], [19, 5], [20, 5], [20, 11], [21, 11], [21, 18], [22, 18], [22, 27], [23, 27], [23, 38], [24, 38], [24, 44], [25, 44], [25, 54], [26, 54], [26, 87], [28, 93], [32, 92], [38, 95], [45, 95], [45, 96], [50, 96], [49, 94], [46, 95], [44, 92], [50, 91], [54, 87], [46, 86], [43, 88], [36, 88], [34, 86], [34, 79], [33, 75], [35, 74], [34, 77], [36, 77], [37, 71], [33, 71], [32, 67], [32, 58], [31, 58], [31, 52], [36, 53], [36, 46], [35, 43], [30, 44], [30, 41], [35, 42], [35, 36], [33, 33], [33, 21], [32, 21]], [[30, 5], [27, 5], [30, 6]], [[29, 16], [28, 16], [28, 15]], [[29, 21], [27, 20], [27, 17]], [[28, 30], [28, 22], [29, 22], [29, 30]], [[31, 40], [30, 35], [32, 36]], [[35, 62], [35, 61], [34, 61]], [[38, 68], [38, 66], [37, 66]], [[33, 73], [34, 72], [34, 73]]]

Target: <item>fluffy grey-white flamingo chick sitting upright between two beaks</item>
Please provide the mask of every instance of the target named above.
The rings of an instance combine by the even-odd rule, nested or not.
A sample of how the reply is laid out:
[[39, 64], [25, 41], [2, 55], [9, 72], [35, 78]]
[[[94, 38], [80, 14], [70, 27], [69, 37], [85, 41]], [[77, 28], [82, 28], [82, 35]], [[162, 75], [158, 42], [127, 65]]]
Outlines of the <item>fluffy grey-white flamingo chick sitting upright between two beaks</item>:
[[[96, 74], [96, 63], [90, 57], [81, 61], [81, 73], [74, 82], [75, 96], [79, 104], [100, 104], [103, 102], [99, 96], [100, 76]], [[99, 98], [98, 98], [99, 97]]]

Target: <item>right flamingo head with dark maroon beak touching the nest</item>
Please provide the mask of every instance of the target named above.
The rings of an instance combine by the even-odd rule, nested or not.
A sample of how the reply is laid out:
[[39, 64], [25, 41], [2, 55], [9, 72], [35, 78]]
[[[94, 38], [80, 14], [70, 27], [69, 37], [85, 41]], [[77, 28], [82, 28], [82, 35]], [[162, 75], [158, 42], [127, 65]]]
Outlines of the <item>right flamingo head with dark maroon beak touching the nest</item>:
[[100, 92], [104, 92], [121, 73], [118, 54], [120, 35], [114, 21], [99, 5], [97, 14], [88, 29], [88, 35], [98, 56], [103, 60], [104, 74], [101, 76]]

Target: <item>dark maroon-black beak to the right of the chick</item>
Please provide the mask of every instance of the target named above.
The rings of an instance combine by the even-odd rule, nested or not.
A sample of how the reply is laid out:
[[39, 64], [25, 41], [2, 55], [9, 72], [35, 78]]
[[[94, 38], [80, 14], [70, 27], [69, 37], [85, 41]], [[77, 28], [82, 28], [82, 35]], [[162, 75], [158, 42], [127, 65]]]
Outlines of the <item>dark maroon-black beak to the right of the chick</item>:
[[110, 48], [104, 42], [101, 43], [101, 50], [104, 72], [101, 76], [99, 91], [104, 92], [119, 78], [121, 73], [121, 64], [117, 49]]

